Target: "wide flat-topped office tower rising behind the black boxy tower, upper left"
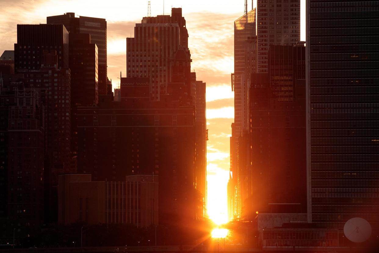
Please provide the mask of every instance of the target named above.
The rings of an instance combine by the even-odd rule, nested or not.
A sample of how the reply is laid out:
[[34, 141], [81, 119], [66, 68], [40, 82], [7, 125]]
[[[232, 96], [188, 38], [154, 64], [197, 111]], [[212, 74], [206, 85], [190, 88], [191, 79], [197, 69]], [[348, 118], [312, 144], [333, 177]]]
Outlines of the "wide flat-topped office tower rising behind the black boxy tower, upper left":
[[47, 17], [46, 23], [63, 24], [70, 36], [75, 33], [89, 33], [91, 35], [90, 43], [95, 43], [98, 48], [99, 94], [107, 94], [106, 20], [96, 17], [75, 17], [75, 13], [65, 13]]

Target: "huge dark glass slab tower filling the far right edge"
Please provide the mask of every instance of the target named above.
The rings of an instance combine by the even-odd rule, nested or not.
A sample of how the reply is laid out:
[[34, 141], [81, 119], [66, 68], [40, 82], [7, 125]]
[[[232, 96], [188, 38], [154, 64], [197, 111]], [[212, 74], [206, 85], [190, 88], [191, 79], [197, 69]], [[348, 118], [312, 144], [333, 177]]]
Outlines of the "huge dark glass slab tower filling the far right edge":
[[378, 1], [307, 1], [309, 222], [379, 221]]

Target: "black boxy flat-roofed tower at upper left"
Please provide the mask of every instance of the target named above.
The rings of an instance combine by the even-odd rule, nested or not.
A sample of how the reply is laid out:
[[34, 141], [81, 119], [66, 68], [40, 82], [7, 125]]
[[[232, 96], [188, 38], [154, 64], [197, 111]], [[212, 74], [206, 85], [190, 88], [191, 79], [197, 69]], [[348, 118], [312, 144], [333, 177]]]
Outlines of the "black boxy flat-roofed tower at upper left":
[[63, 25], [17, 25], [15, 72], [40, 69], [43, 50], [56, 50], [58, 66], [69, 67], [69, 33]]

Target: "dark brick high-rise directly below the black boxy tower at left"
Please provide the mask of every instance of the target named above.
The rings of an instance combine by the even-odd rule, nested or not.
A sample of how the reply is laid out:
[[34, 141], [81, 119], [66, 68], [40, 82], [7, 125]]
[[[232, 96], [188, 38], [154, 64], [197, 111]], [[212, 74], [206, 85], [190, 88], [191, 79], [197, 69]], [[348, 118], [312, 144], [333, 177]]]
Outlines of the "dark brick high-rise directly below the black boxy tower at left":
[[43, 50], [38, 70], [19, 69], [25, 86], [34, 88], [44, 105], [45, 218], [56, 220], [58, 174], [75, 172], [70, 156], [70, 69], [59, 68], [55, 50]]

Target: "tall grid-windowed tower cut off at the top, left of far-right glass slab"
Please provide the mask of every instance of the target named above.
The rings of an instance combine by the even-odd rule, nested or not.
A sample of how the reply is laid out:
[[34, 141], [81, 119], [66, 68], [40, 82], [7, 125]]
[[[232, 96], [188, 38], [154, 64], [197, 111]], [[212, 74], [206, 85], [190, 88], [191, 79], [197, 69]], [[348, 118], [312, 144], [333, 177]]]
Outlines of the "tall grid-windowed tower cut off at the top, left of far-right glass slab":
[[268, 72], [269, 45], [300, 40], [300, 0], [257, 0], [258, 73]]

